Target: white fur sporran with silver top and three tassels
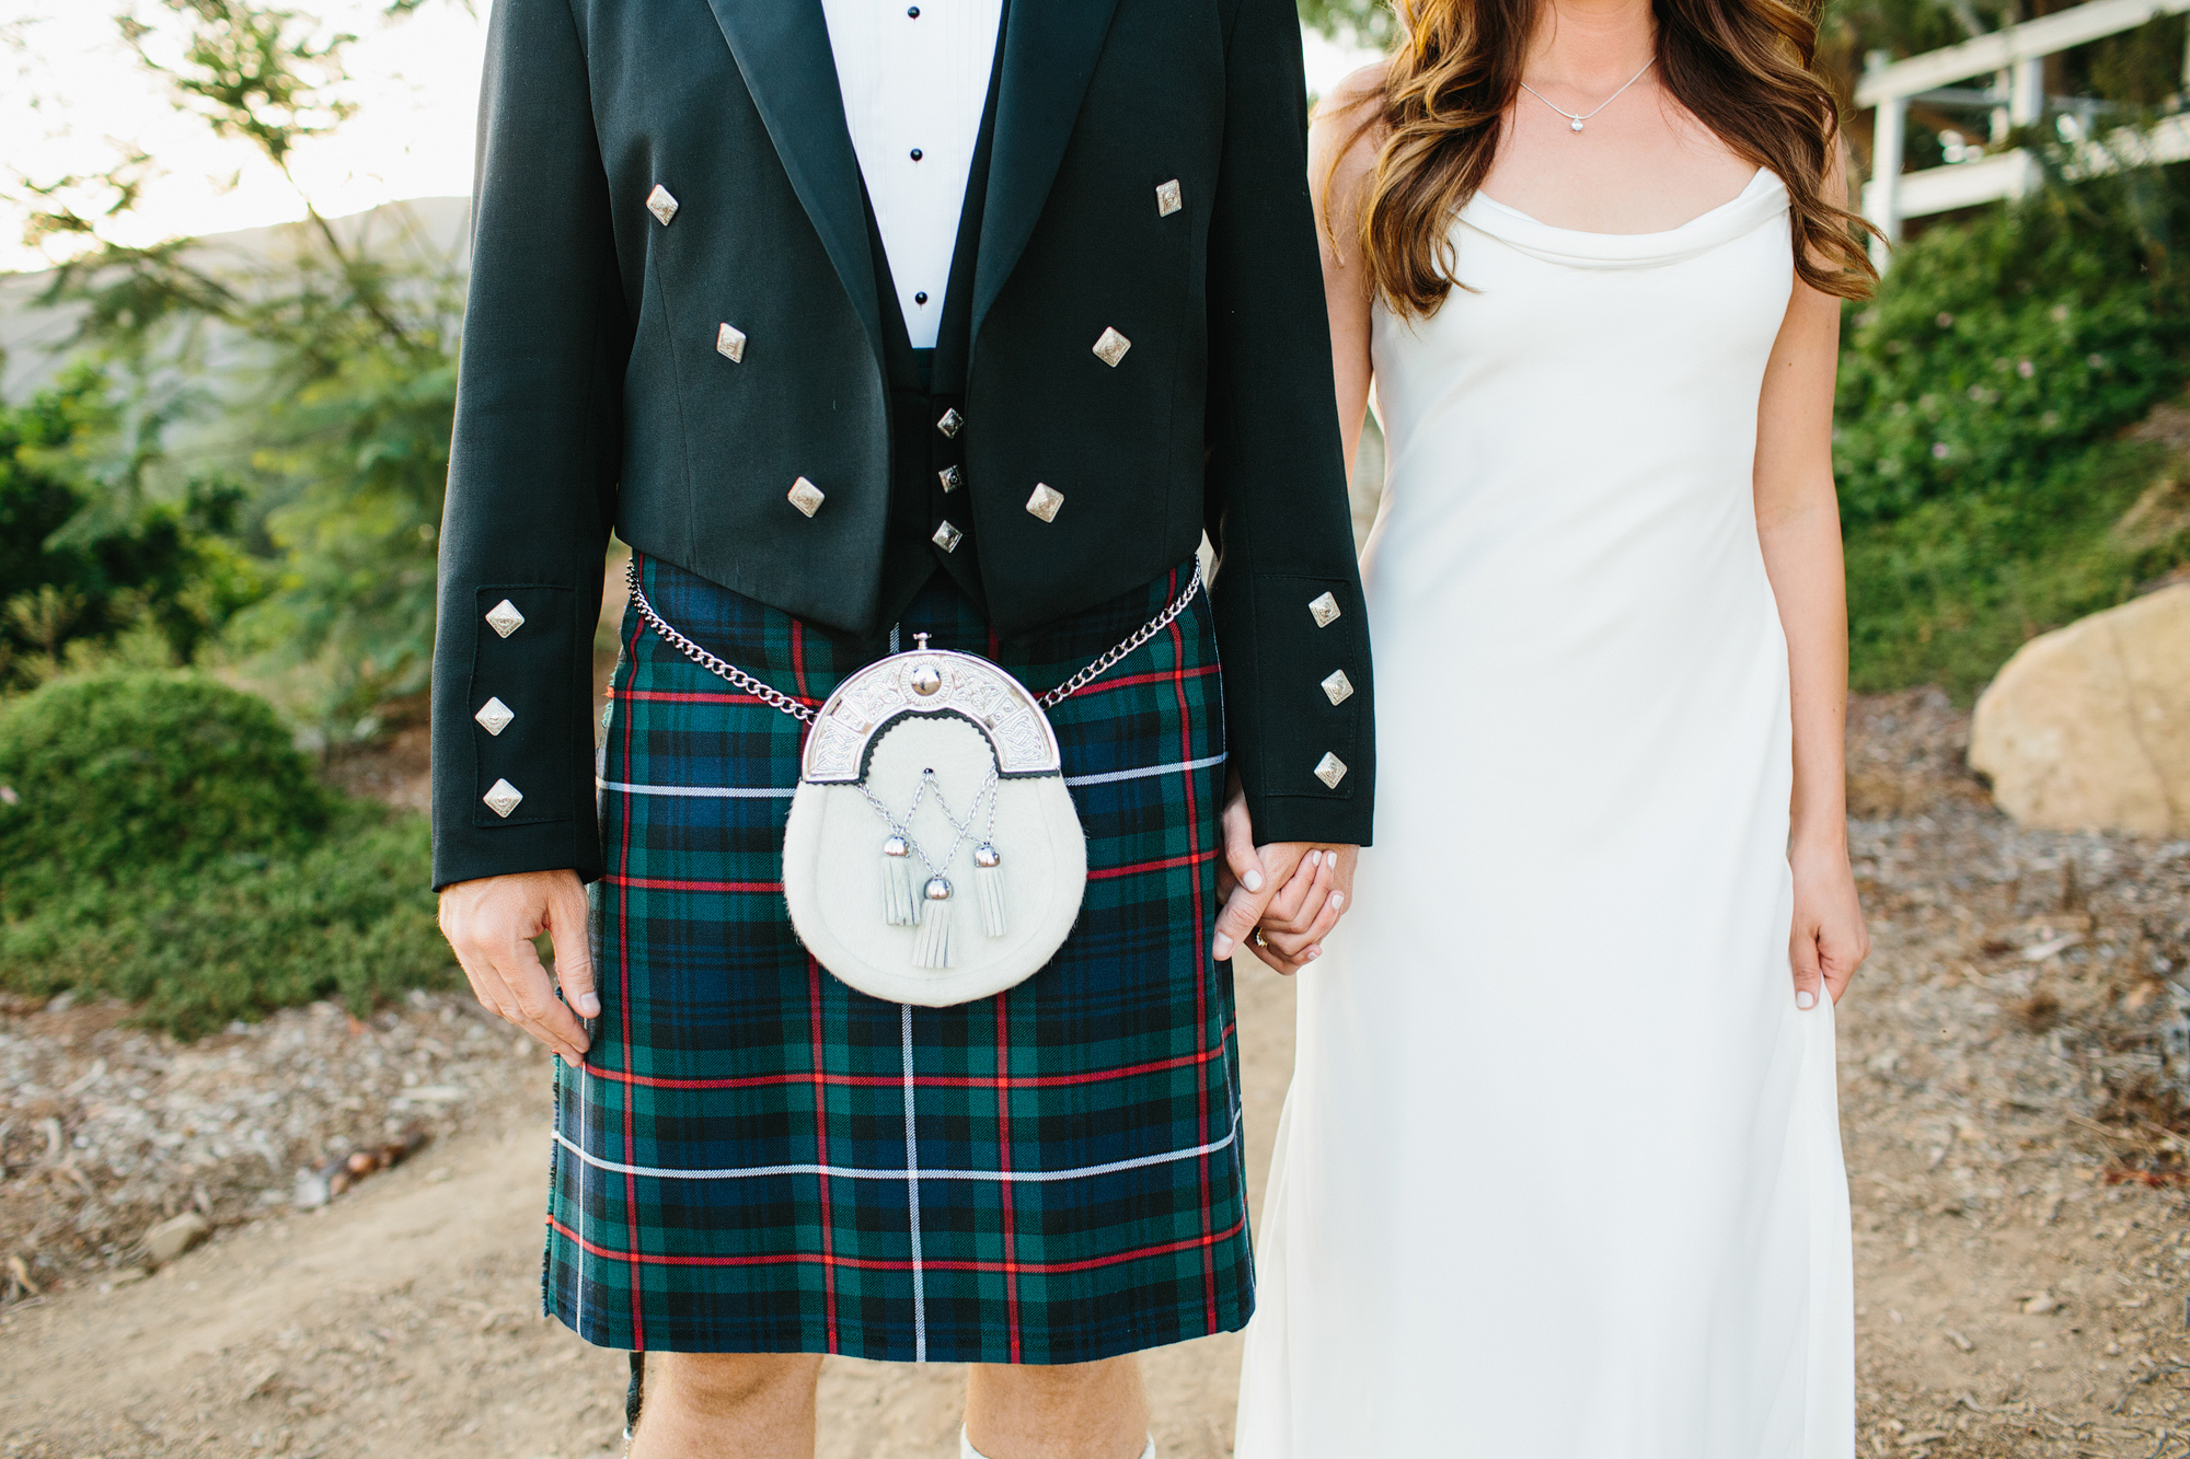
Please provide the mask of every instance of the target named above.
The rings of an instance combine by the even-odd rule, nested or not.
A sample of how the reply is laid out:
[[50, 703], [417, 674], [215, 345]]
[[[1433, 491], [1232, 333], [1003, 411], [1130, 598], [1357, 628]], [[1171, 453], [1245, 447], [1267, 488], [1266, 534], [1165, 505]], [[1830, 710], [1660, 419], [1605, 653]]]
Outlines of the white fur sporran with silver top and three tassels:
[[922, 633], [815, 716], [784, 900], [852, 988], [946, 1008], [1034, 977], [1080, 918], [1086, 870], [1049, 716], [988, 659]]

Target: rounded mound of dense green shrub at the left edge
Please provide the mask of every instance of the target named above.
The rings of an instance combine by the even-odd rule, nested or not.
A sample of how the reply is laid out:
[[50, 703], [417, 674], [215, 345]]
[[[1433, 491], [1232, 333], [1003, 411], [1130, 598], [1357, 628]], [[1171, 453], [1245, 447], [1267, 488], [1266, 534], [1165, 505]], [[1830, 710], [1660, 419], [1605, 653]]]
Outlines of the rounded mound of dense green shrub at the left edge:
[[0, 909], [304, 852], [328, 795], [274, 710], [184, 673], [57, 679], [0, 710]]

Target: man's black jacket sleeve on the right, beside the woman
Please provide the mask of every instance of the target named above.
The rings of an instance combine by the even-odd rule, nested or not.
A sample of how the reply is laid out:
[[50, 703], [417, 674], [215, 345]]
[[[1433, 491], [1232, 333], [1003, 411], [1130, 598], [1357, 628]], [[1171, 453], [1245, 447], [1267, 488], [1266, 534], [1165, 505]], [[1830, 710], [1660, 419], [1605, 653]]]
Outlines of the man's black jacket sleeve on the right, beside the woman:
[[1369, 616], [1347, 506], [1290, 0], [1240, 0], [1209, 223], [1209, 539], [1255, 839], [1369, 843]]

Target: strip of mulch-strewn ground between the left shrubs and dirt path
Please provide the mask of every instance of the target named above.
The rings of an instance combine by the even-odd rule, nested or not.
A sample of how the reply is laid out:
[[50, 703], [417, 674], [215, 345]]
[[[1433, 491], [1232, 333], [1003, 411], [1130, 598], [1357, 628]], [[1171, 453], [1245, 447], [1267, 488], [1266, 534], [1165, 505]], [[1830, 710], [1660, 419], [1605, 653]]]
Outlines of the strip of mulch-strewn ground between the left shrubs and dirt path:
[[[469, 995], [412, 992], [372, 1019], [333, 1003], [199, 1043], [123, 1003], [0, 1001], [0, 1288], [22, 1299], [134, 1282], [142, 1233], [324, 1205], [436, 1139], [499, 1122], [545, 1054]], [[361, 1174], [350, 1163], [366, 1168]]]

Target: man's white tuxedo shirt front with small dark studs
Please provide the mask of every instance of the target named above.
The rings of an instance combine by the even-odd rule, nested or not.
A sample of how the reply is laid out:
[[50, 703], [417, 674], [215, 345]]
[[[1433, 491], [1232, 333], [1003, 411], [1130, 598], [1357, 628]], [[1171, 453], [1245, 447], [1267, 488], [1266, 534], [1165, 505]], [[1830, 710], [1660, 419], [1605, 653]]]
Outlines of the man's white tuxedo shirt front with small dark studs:
[[935, 346], [1003, 0], [821, 0], [913, 348]]

